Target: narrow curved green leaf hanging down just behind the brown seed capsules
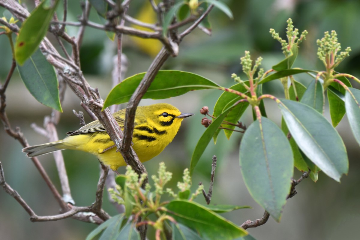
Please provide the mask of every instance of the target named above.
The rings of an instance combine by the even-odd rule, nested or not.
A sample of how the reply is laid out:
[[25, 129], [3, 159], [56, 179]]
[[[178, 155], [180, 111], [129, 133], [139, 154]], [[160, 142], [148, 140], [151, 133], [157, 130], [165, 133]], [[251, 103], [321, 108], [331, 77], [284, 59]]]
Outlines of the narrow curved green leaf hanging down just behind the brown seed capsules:
[[193, 155], [190, 162], [190, 176], [193, 175], [196, 164], [199, 162], [201, 155], [204, 153], [207, 145], [211, 141], [212, 137], [216, 133], [217, 129], [220, 127], [222, 121], [226, 115], [230, 112], [231, 108], [226, 109], [220, 116], [218, 116], [211, 124], [208, 126], [200, 137], [198, 143], [195, 146]]

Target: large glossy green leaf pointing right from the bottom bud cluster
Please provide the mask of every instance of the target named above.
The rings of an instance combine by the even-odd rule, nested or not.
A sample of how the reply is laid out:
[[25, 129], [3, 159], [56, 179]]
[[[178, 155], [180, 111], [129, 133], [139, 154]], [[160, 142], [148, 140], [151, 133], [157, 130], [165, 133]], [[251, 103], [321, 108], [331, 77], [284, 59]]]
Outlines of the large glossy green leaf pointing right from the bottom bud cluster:
[[230, 240], [247, 235], [243, 228], [194, 201], [172, 200], [165, 207], [168, 209], [166, 214], [174, 217], [178, 223], [199, 232], [204, 240]]

